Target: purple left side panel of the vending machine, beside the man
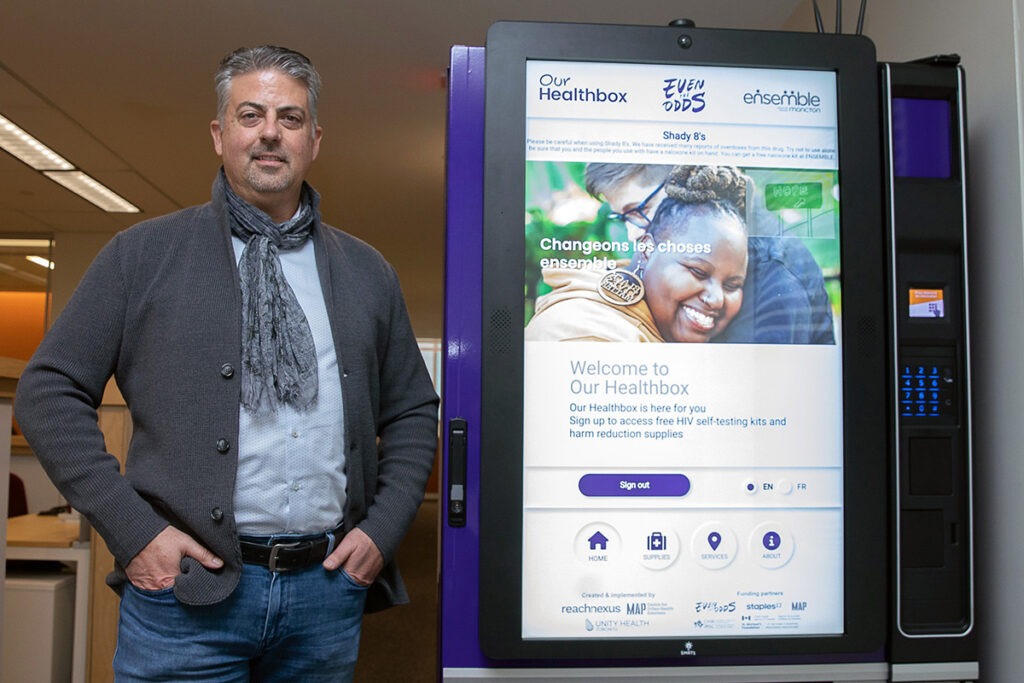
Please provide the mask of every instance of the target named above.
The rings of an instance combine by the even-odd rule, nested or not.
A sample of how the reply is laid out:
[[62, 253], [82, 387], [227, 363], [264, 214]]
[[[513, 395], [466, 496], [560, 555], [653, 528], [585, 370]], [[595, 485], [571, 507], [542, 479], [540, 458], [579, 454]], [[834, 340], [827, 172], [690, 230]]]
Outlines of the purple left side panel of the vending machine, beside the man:
[[[439, 666], [486, 667], [479, 626], [480, 288], [483, 249], [482, 47], [452, 48], [449, 72], [444, 246], [444, 384], [441, 436]], [[468, 423], [466, 525], [447, 523], [447, 426]]]

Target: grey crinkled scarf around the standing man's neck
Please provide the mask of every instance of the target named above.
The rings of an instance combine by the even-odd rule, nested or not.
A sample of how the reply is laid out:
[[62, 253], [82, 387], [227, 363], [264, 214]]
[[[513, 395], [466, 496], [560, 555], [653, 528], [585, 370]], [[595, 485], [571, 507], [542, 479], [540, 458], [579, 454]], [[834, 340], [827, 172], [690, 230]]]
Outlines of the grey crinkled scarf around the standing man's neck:
[[316, 348], [302, 307], [281, 269], [278, 252], [309, 238], [315, 190], [303, 185], [294, 218], [274, 223], [223, 181], [231, 233], [246, 243], [242, 281], [242, 405], [253, 414], [289, 403], [303, 410], [316, 399]]

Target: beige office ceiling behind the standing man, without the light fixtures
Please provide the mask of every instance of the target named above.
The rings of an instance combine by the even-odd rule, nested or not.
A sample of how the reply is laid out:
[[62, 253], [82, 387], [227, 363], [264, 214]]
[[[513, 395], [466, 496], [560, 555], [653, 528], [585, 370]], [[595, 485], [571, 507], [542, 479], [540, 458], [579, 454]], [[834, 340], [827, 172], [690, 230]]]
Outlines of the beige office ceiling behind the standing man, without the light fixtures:
[[810, 12], [801, 0], [10, 0], [0, 114], [143, 213], [103, 213], [0, 153], [0, 233], [113, 236], [208, 200], [217, 62], [241, 45], [287, 45], [324, 77], [310, 180], [325, 218], [391, 260], [417, 333], [439, 336], [452, 45], [483, 45], [499, 19], [777, 29], [798, 8]]

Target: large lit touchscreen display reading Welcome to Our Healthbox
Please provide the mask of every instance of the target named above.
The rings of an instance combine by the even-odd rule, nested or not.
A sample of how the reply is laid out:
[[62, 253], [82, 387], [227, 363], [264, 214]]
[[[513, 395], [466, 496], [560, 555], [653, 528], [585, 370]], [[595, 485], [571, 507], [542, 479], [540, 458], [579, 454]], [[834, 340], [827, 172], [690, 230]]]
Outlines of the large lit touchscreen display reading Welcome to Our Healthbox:
[[843, 633], [836, 75], [525, 78], [522, 638]]

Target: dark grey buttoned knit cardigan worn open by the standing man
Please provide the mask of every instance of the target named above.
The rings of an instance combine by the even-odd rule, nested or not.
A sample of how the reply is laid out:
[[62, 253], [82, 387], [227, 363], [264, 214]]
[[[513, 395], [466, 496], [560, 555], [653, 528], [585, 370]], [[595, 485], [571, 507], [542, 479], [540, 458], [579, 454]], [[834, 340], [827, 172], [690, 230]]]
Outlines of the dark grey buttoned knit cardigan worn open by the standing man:
[[[188, 604], [226, 598], [242, 567], [232, 514], [241, 294], [221, 182], [211, 203], [143, 221], [103, 248], [15, 396], [47, 474], [113, 552], [115, 589], [167, 524], [224, 560], [218, 571], [182, 561], [175, 595]], [[408, 601], [393, 558], [433, 463], [437, 395], [391, 266], [318, 218], [311, 239], [344, 396], [344, 524], [384, 555], [367, 604], [379, 609]], [[112, 375], [133, 425], [124, 475], [96, 425]]]

